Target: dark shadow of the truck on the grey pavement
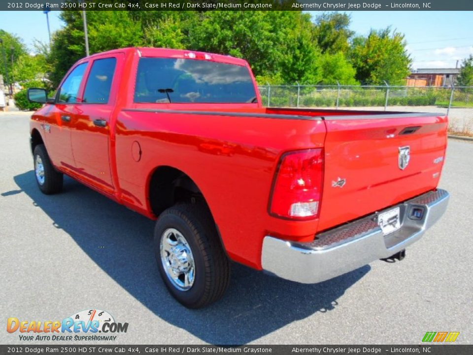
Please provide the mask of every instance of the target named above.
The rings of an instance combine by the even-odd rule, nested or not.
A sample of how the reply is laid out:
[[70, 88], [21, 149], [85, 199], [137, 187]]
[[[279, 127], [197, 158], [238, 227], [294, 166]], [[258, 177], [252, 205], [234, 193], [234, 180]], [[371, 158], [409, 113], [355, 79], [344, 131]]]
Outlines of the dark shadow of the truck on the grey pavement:
[[[370, 271], [358, 270], [321, 284], [297, 284], [234, 264], [225, 297], [202, 310], [188, 310], [169, 295], [153, 254], [154, 222], [65, 178], [64, 192], [45, 196], [34, 172], [16, 184], [103, 271], [161, 319], [212, 344], [244, 344], [315, 312], [334, 309], [345, 290]], [[3, 192], [2, 196], [18, 193]], [[284, 342], [284, 339], [281, 339]]]

